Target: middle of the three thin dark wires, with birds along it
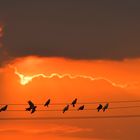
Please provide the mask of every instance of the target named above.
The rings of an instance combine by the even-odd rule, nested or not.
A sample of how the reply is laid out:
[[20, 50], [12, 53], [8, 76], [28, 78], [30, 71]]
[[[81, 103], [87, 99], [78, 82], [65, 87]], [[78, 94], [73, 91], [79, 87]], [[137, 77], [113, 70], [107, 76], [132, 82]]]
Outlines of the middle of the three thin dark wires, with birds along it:
[[[130, 109], [130, 108], [140, 108], [140, 106], [120, 106], [120, 107], [110, 107], [108, 108], [108, 110], [115, 110], [115, 109]], [[83, 111], [95, 111], [97, 109], [95, 108], [90, 108], [90, 109], [84, 109]], [[7, 110], [7, 111], [25, 111], [25, 110]], [[47, 109], [43, 109], [43, 110], [36, 110], [36, 111], [61, 111], [61, 109], [51, 109], [51, 110], [47, 110]], [[69, 111], [77, 111], [77, 109], [69, 109]]]

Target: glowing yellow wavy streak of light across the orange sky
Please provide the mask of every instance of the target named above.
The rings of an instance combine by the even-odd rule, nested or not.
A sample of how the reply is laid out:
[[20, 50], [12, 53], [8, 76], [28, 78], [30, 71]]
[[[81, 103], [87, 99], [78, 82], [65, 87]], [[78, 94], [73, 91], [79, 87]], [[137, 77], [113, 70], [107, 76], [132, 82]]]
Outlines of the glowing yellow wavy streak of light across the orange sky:
[[71, 75], [71, 74], [58, 74], [58, 73], [52, 73], [50, 75], [45, 75], [45, 74], [35, 74], [35, 75], [30, 75], [30, 76], [25, 76], [24, 74], [21, 74], [20, 72], [18, 72], [17, 68], [15, 69], [15, 74], [20, 78], [20, 84], [21, 85], [27, 85], [29, 84], [34, 78], [37, 77], [43, 77], [43, 78], [54, 78], [54, 77], [58, 77], [59, 79], [62, 78], [69, 78], [69, 79], [76, 79], [76, 78], [83, 78], [83, 79], [89, 79], [91, 81], [97, 81], [97, 80], [104, 80], [108, 83], [110, 83], [112, 86], [114, 87], [119, 87], [119, 88], [126, 88], [128, 85], [127, 84], [117, 84], [113, 81], [111, 81], [110, 79], [107, 79], [105, 77], [92, 77], [92, 76], [87, 76], [87, 75]]

